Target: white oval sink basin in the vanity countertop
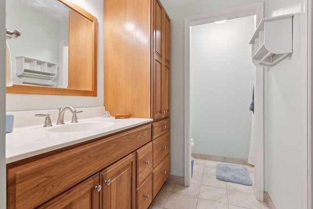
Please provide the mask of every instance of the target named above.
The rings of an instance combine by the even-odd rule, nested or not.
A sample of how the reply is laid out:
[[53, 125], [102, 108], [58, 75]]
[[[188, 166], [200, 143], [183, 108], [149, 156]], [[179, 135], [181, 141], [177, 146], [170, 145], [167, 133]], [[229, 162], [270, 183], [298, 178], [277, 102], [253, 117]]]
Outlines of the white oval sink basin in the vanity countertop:
[[114, 125], [113, 122], [107, 121], [91, 121], [91, 122], [78, 122], [69, 123], [63, 125], [54, 125], [47, 129], [49, 132], [80, 132], [80, 131], [92, 131], [96, 129], [108, 128]]

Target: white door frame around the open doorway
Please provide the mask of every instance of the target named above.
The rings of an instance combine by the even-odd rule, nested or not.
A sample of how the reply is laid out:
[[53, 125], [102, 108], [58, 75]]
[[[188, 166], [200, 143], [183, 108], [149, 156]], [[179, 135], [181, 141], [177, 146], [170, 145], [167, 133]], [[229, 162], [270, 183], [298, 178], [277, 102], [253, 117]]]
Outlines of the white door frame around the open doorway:
[[[258, 24], [264, 17], [264, 2], [248, 4], [217, 12], [209, 12], [185, 18], [184, 48], [184, 185], [191, 182], [191, 148], [190, 148], [190, 26], [213, 23], [223, 19], [241, 18], [256, 15]], [[257, 26], [257, 25], [256, 25]], [[249, 40], [247, 40], [248, 43]], [[254, 124], [255, 124], [255, 196], [264, 199], [264, 134], [263, 134], [263, 68], [255, 68], [254, 81]]]

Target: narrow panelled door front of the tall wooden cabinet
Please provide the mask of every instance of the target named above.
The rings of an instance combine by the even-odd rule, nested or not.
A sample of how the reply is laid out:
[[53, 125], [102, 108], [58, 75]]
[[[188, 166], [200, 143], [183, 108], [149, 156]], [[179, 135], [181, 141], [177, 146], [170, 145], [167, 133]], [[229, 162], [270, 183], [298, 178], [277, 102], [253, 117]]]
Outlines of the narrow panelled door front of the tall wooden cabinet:
[[171, 20], [159, 0], [152, 8], [152, 117], [170, 116]]

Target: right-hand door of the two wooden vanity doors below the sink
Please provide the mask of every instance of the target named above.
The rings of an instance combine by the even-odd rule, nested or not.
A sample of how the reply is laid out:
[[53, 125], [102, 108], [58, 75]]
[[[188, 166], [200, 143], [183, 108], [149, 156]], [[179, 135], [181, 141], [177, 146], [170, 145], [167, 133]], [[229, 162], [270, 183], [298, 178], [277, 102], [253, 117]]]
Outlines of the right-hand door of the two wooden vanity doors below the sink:
[[135, 153], [112, 164], [100, 173], [100, 208], [135, 208]]

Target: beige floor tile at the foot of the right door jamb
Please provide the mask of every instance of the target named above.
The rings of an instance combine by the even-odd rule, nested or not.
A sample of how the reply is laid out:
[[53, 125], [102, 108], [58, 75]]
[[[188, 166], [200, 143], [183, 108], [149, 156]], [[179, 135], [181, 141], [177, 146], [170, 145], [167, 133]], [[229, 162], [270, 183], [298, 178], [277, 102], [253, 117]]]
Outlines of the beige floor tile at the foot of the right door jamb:
[[259, 201], [256, 200], [254, 194], [227, 190], [227, 196], [229, 205], [248, 209], [261, 209]]

